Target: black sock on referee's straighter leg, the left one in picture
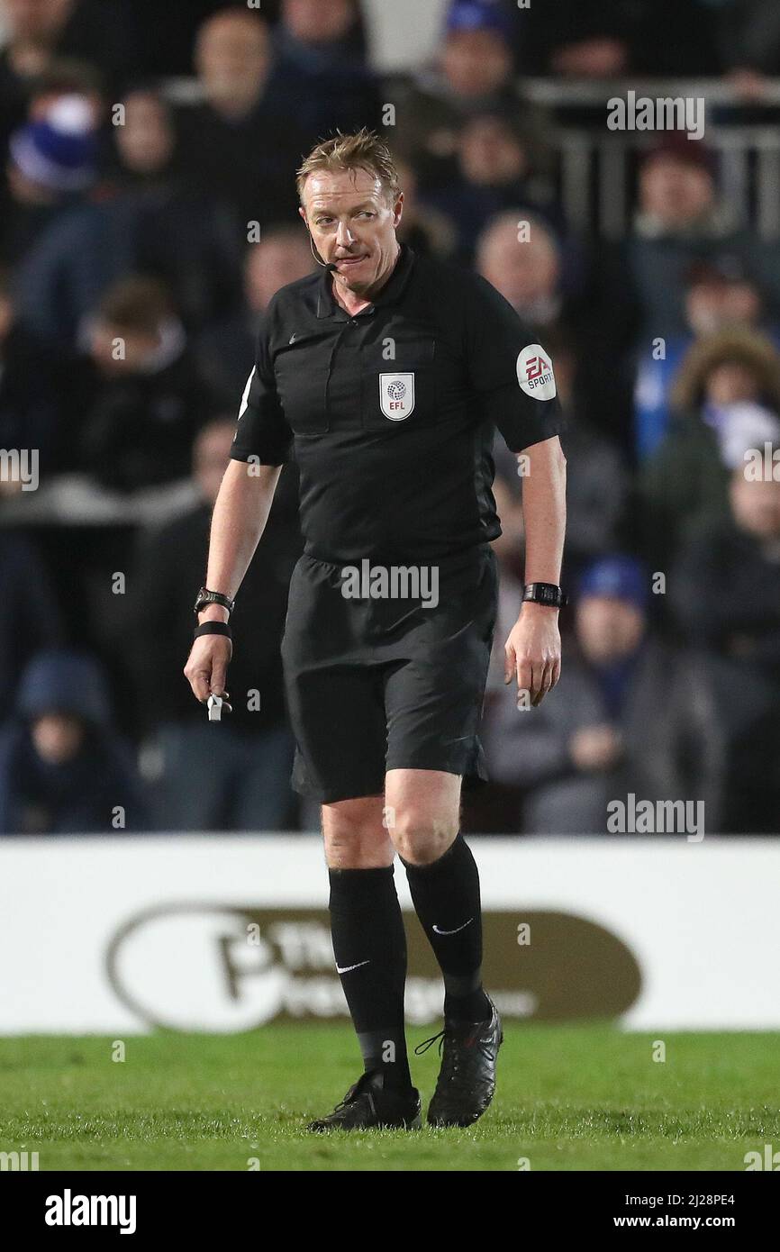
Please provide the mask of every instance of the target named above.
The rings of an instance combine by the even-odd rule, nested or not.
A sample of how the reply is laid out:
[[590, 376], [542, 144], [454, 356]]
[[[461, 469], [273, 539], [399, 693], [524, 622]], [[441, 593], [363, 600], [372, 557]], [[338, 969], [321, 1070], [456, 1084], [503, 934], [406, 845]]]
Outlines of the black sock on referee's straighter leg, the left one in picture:
[[412, 1085], [403, 1024], [406, 931], [393, 866], [332, 869], [331, 933], [336, 965], [366, 1070], [394, 1090]]

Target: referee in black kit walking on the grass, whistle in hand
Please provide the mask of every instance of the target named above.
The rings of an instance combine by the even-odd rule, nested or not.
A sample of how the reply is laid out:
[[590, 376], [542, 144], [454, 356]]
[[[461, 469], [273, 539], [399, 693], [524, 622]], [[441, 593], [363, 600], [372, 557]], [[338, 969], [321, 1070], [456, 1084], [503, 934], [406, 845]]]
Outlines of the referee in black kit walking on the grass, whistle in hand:
[[305, 543], [282, 641], [293, 786], [322, 805], [333, 948], [364, 1065], [309, 1129], [419, 1126], [396, 853], [444, 982], [427, 1119], [470, 1126], [493, 1097], [502, 1042], [481, 979], [477, 865], [458, 829], [461, 785], [487, 777], [477, 732], [501, 533], [491, 447], [497, 427], [523, 454], [526, 588], [506, 681], [536, 705], [558, 680], [565, 602], [552, 363], [485, 279], [398, 244], [403, 194], [376, 134], [319, 144], [298, 192], [323, 268], [268, 308], [184, 674], [198, 700], [227, 695], [229, 612], [294, 456]]

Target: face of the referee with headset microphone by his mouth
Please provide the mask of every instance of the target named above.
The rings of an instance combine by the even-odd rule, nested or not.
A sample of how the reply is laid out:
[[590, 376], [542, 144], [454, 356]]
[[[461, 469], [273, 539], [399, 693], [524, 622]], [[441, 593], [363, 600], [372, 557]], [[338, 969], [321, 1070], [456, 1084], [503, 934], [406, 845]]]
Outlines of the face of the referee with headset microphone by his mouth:
[[398, 243], [403, 195], [394, 204], [381, 179], [366, 169], [309, 174], [300, 217], [314, 247], [336, 264], [339, 287], [362, 295], [389, 273]]

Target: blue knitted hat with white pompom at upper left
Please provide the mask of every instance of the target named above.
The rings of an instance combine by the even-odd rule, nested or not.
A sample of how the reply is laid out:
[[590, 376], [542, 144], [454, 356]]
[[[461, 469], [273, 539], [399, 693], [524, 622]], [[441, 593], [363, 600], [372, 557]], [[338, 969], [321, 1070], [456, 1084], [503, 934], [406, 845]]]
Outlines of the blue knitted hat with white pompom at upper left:
[[11, 156], [30, 182], [51, 192], [80, 192], [95, 180], [98, 148], [89, 100], [60, 96], [44, 118], [10, 139]]

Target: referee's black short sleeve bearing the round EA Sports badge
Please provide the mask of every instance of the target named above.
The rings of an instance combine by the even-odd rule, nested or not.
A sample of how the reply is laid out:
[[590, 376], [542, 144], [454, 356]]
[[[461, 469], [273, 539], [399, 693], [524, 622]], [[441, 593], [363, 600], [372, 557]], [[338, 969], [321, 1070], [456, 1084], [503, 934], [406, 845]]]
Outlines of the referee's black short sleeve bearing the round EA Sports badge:
[[475, 275], [472, 295], [466, 324], [471, 386], [507, 447], [522, 452], [563, 429], [552, 357], [486, 279]]

